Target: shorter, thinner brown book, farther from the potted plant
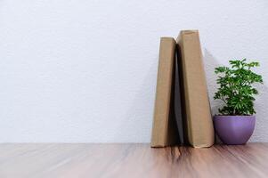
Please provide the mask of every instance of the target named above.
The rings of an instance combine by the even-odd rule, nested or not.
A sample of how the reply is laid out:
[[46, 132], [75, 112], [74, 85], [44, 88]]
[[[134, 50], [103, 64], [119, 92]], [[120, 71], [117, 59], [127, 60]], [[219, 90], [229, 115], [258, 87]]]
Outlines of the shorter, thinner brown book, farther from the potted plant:
[[179, 142], [174, 114], [175, 39], [161, 37], [158, 81], [151, 134], [151, 147], [165, 147]]

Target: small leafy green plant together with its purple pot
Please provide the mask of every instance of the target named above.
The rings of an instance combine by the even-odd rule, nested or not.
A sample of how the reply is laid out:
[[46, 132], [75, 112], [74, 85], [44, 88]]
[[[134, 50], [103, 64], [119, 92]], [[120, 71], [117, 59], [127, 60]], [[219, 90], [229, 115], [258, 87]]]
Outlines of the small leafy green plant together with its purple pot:
[[215, 132], [225, 144], [245, 144], [253, 134], [256, 113], [254, 84], [263, 84], [262, 76], [252, 71], [258, 67], [256, 61], [246, 59], [229, 61], [231, 67], [215, 68], [219, 85], [214, 99], [223, 101], [214, 117]]

